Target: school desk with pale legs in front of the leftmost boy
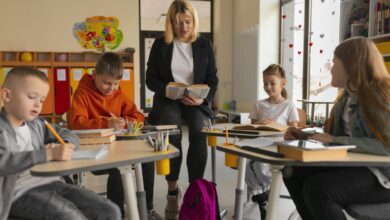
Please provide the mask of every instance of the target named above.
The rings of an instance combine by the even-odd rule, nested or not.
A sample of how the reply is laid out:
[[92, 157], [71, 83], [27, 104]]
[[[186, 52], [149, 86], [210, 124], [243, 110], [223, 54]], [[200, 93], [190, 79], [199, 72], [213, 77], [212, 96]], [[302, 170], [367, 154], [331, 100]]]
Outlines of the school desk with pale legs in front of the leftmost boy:
[[[90, 146], [89, 146], [90, 147]], [[88, 146], [82, 146], [86, 149]], [[166, 152], [154, 152], [153, 148], [144, 140], [116, 141], [109, 146], [107, 155], [98, 160], [71, 160], [53, 161], [38, 164], [31, 168], [34, 176], [65, 176], [74, 173], [104, 170], [118, 167], [121, 171], [123, 188], [127, 205], [127, 218], [131, 220], [146, 219], [144, 210], [137, 210], [137, 200], [134, 192], [134, 183], [131, 177], [131, 165], [136, 165], [137, 193], [144, 193], [141, 163], [153, 162], [165, 158], [174, 158], [179, 155], [179, 150], [170, 147]], [[145, 204], [139, 207], [145, 207]], [[141, 214], [141, 215], [140, 215]]]

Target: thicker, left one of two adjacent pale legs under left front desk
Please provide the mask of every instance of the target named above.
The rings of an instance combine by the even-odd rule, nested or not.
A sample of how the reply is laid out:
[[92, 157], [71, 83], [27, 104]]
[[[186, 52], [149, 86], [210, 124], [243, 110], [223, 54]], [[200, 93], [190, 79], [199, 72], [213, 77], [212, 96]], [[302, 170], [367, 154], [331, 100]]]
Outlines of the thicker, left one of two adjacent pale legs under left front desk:
[[127, 219], [139, 220], [137, 199], [134, 192], [134, 182], [133, 177], [131, 176], [131, 166], [120, 167], [119, 170], [121, 171], [123, 189], [125, 192]]

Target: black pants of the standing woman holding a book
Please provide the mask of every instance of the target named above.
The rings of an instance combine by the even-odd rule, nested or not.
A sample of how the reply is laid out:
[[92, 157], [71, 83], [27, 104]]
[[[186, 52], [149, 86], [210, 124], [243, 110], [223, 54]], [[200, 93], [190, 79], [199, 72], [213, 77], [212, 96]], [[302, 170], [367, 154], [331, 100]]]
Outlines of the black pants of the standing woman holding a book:
[[[154, 123], [162, 125], [176, 124], [180, 128], [182, 119], [184, 119], [188, 125], [188, 138], [190, 142], [187, 153], [189, 181], [192, 182], [198, 178], [203, 178], [207, 163], [207, 143], [206, 135], [202, 134], [201, 130], [203, 128], [203, 121], [208, 117], [196, 106], [187, 106], [179, 101], [169, 101], [167, 103], [160, 105], [159, 112], [156, 112], [158, 118]], [[169, 137], [170, 143], [180, 150], [180, 156], [170, 160], [171, 173], [166, 176], [166, 180], [168, 181], [177, 181], [179, 179], [183, 157], [181, 139], [181, 134]]]

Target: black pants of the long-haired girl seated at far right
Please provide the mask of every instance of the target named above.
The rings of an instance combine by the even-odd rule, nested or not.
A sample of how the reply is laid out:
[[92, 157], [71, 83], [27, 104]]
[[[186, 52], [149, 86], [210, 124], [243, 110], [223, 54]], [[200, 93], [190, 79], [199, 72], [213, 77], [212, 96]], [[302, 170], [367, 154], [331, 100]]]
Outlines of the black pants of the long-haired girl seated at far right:
[[346, 219], [348, 204], [390, 202], [390, 190], [365, 167], [292, 167], [283, 180], [303, 220]]

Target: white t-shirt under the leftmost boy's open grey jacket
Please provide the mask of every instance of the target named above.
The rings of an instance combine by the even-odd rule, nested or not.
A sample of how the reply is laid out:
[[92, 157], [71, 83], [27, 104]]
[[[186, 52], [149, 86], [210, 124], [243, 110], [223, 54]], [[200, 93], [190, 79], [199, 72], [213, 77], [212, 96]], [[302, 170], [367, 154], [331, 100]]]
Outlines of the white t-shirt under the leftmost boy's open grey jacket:
[[[36, 150], [32, 145], [31, 131], [27, 124], [15, 128], [15, 133], [17, 145], [12, 149], [12, 151], [22, 152]], [[58, 180], [60, 180], [60, 177], [36, 177], [30, 174], [30, 169], [24, 170], [18, 174], [12, 201], [15, 201], [32, 188]]]

